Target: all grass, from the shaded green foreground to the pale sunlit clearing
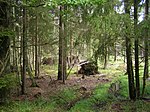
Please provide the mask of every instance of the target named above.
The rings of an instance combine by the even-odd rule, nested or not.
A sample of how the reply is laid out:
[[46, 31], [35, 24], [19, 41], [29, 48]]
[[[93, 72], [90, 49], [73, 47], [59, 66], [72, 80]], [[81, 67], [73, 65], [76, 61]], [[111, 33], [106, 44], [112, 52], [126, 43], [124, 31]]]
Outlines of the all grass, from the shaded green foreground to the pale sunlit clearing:
[[[141, 84], [142, 68], [143, 65], [140, 66]], [[56, 74], [56, 67], [52, 71], [49, 66], [45, 66], [43, 69], [48, 74]], [[129, 100], [128, 78], [127, 75], [124, 75], [124, 63], [109, 63], [107, 69], [100, 69], [99, 71], [102, 74], [106, 74], [107, 77], [112, 78], [113, 81], [111, 83], [120, 82], [120, 89], [117, 96], [114, 96], [109, 91], [111, 83], [98, 85], [92, 91], [92, 94], [85, 98], [80, 98], [81, 93], [77, 91], [77, 88], [67, 88], [60, 90], [60, 92], [49, 97], [49, 99], [39, 98], [35, 101], [9, 102], [0, 106], [0, 112], [149, 112], [149, 102]], [[150, 96], [150, 81], [147, 81], [145, 96]], [[73, 105], [69, 106], [72, 102]]]

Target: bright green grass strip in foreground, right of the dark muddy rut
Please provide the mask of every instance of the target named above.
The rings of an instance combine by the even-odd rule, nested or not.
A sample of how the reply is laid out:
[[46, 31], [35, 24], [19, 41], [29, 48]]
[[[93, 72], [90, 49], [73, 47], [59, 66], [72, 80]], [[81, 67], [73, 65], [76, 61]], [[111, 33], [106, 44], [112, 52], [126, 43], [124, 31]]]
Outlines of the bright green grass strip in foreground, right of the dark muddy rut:
[[93, 91], [93, 94], [88, 99], [80, 100], [70, 109], [70, 112], [95, 112], [93, 106], [103, 104], [108, 101], [108, 88], [110, 84], [99, 85]]

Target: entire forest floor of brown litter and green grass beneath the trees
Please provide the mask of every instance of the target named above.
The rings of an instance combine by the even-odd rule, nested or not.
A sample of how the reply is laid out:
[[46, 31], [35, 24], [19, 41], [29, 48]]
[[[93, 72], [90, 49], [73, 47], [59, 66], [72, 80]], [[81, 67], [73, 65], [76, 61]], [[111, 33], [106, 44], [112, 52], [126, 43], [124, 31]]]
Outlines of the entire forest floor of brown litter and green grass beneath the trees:
[[100, 67], [100, 74], [84, 79], [73, 71], [65, 84], [52, 75], [57, 73], [45, 68], [35, 78], [38, 87], [32, 87], [31, 79], [27, 78], [26, 94], [14, 94], [8, 104], [0, 106], [0, 112], [149, 112], [150, 81], [145, 90], [148, 100], [130, 101], [122, 63], [109, 64], [106, 70]]

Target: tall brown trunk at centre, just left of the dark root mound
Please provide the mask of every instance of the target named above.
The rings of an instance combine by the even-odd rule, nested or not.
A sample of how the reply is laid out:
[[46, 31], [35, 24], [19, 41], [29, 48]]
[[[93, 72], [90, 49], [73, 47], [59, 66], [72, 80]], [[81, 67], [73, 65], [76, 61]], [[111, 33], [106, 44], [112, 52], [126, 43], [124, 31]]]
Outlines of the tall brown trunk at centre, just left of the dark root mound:
[[[67, 40], [66, 36], [66, 15], [63, 11], [66, 10], [66, 6], [60, 6], [60, 17], [59, 17], [59, 64], [58, 64], [58, 80], [63, 80], [65, 83], [66, 79], [66, 60], [67, 60]], [[64, 17], [65, 16], [65, 17]]]

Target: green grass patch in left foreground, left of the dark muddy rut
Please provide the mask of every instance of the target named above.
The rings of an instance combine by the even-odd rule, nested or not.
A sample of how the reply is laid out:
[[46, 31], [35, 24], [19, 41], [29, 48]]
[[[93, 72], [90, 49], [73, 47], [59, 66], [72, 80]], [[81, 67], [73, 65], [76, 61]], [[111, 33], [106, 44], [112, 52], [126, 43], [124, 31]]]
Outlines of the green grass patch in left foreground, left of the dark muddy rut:
[[63, 112], [63, 109], [67, 108], [66, 104], [75, 98], [76, 91], [64, 89], [49, 99], [38, 98], [32, 102], [27, 100], [10, 102], [0, 106], [0, 110], [2, 112]]

